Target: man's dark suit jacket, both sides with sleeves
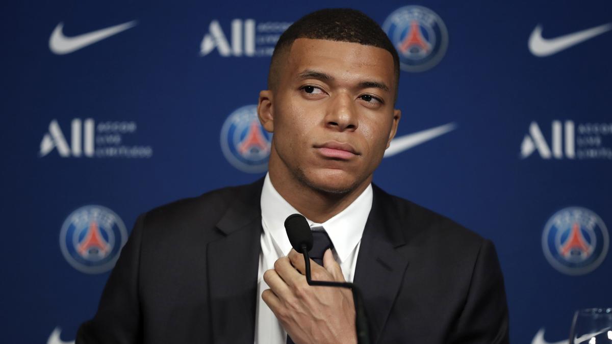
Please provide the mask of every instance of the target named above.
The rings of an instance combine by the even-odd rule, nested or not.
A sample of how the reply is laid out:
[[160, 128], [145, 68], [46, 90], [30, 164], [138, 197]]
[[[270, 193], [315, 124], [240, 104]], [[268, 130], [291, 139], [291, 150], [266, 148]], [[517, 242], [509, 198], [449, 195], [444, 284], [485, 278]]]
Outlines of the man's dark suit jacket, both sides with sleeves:
[[[138, 217], [76, 343], [252, 344], [262, 185]], [[493, 244], [376, 186], [354, 283], [373, 343], [508, 343]]]

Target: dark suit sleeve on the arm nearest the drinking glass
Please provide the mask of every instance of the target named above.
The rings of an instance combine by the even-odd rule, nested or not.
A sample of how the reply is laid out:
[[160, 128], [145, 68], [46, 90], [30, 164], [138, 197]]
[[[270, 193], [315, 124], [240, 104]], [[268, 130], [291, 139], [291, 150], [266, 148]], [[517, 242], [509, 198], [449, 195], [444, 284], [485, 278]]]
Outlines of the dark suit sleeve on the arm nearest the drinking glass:
[[463, 312], [451, 343], [508, 344], [509, 320], [504, 277], [493, 243], [484, 240], [474, 264]]

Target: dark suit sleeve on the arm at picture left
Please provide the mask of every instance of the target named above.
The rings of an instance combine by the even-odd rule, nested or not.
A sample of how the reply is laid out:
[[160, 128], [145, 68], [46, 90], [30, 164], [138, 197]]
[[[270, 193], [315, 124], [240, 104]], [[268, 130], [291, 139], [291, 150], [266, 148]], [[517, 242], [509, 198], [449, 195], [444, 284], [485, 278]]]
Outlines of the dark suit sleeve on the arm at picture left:
[[102, 292], [92, 320], [81, 324], [76, 344], [141, 343], [142, 316], [138, 297], [138, 267], [145, 214], [136, 220], [132, 234]]

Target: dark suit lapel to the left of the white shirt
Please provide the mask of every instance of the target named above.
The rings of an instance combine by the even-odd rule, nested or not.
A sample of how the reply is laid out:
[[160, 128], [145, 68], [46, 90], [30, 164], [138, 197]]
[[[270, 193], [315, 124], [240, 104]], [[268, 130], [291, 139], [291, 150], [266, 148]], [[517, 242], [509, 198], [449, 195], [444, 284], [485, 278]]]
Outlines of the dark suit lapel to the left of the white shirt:
[[218, 222], [222, 237], [207, 246], [214, 343], [253, 343], [261, 250], [263, 180], [248, 185]]

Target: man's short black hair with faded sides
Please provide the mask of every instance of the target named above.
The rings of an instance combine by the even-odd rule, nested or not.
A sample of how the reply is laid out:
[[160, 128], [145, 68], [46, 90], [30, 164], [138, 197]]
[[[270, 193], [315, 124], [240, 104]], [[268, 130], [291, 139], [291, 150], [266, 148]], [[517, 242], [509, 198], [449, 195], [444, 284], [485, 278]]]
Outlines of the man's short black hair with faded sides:
[[280, 36], [270, 63], [268, 89], [273, 89], [278, 75], [278, 59], [299, 38], [335, 40], [383, 48], [393, 56], [395, 98], [400, 83], [400, 57], [387, 34], [376, 21], [354, 9], [323, 9], [312, 12], [291, 24]]

